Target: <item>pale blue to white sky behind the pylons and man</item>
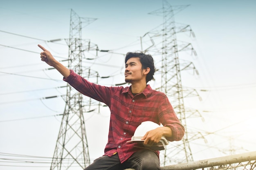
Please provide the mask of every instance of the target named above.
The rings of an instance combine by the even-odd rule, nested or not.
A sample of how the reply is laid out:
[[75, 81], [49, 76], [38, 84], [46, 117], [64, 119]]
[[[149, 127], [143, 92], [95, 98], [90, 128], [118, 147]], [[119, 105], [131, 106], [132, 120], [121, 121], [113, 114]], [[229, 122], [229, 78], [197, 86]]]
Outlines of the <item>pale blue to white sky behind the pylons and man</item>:
[[[182, 79], [184, 86], [197, 89], [202, 97], [202, 102], [188, 99], [185, 103], [185, 106], [198, 109], [205, 119], [203, 123], [194, 120], [200, 127], [193, 128], [209, 132], [223, 128], [215, 135], [207, 136], [207, 144], [200, 140], [193, 144], [194, 159], [229, 155], [225, 150], [229, 147], [229, 139], [233, 139], [232, 147], [238, 153], [256, 150], [255, 140], [252, 141], [256, 119], [256, 1], [168, 2], [190, 5], [175, 15], [175, 21], [189, 24], [195, 33], [195, 38], [189, 37], [189, 33], [181, 37], [191, 42], [198, 53], [186, 60], [195, 64], [200, 75], [188, 72]], [[114, 53], [101, 54], [87, 64], [99, 71], [100, 76], [112, 76], [100, 79], [99, 84], [113, 85], [124, 82], [124, 57], [115, 53], [141, 50], [140, 37], [162, 23], [162, 17], [148, 13], [160, 8], [162, 1], [158, 0], [1, 1], [0, 152], [53, 156], [61, 120], [61, 116], [54, 115], [63, 113], [65, 103], [61, 97], [44, 97], [65, 95], [65, 88], [58, 88], [65, 82], [56, 71], [46, 70], [49, 67], [40, 61], [37, 44], [49, 49], [58, 60], [67, 57], [64, 40], [59, 44], [42, 40], [69, 38], [71, 9], [80, 17], [97, 18], [83, 28], [82, 38]], [[160, 80], [151, 82], [152, 86], [157, 81]], [[100, 114], [85, 115], [91, 159], [101, 156], [106, 144], [109, 113], [104, 109]], [[97, 122], [101, 124], [101, 130], [98, 130]], [[102, 140], [97, 140], [95, 131]], [[2, 166], [7, 164], [0, 162], [5, 170], [22, 169]], [[45, 166], [38, 168], [41, 170], [49, 169], [49, 164], [39, 166]]]

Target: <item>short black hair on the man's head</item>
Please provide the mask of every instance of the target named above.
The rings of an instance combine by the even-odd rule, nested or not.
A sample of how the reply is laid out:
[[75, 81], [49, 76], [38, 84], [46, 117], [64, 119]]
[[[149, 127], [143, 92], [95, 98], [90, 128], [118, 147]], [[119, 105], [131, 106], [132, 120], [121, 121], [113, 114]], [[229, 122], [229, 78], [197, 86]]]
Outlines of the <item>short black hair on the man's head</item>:
[[150, 71], [149, 71], [149, 73], [146, 76], [146, 83], [148, 83], [152, 79], [155, 80], [155, 78], [153, 77], [153, 75], [155, 73], [155, 66], [154, 66], [153, 57], [150, 54], [144, 54], [141, 51], [135, 52], [135, 53], [128, 52], [126, 54], [126, 57], [125, 57], [125, 64], [132, 57], [139, 58], [139, 60], [140, 60], [140, 62], [142, 64], [142, 68], [143, 69], [146, 69], [147, 67], [150, 68]]

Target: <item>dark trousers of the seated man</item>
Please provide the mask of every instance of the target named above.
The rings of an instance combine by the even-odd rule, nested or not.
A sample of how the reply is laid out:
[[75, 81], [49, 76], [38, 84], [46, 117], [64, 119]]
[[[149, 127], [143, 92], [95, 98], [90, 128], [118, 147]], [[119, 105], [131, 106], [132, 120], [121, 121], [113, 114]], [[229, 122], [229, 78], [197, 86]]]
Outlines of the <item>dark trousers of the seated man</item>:
[[139, 150], [124, 163], [120, 162], [118, 154], [112, 157], [102, 156], [95, 159], [85, 170], [124, 170], [126, 168], [160, 170], [158, 155], [152, 150]]

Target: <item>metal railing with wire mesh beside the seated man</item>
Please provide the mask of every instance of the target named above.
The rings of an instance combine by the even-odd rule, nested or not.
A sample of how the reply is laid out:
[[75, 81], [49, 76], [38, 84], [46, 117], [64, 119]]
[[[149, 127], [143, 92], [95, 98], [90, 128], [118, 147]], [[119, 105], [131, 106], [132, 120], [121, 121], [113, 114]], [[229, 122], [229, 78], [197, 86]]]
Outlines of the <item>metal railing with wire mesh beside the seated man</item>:
[[256, 170], [256, 151], [165, 166], [162, 170]]

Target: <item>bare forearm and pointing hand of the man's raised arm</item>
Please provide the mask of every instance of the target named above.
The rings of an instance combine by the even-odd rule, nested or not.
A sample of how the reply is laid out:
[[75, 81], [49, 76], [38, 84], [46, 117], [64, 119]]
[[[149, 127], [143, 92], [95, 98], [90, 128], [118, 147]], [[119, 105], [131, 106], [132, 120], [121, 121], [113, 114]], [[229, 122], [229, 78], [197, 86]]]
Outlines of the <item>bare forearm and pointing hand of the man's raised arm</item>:
[[45, 49], [40, 44], [38, 44], [38, 46], [40, 47], [40, 49], [43, 50], [43, 52], [40, 53], [41, 60], [43, 62], [46, 62], [49, 66], [53, 66], [54, 68], [56, 68], [56, 70], [58, 70], [58, 72], [60, 72], [63, 77], [67, 78], [70, 75], [70, 70], [63, 66], [60, 62], [55, 60], [55, 58], [47, 49]]

